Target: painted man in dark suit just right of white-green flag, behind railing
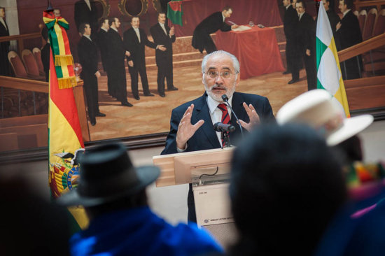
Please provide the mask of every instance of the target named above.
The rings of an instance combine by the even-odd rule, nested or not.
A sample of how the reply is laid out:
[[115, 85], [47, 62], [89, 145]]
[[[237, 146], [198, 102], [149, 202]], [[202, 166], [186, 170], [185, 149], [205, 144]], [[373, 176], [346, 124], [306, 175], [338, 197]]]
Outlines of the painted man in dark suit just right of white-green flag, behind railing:
[[[361, 35], [358, 18], [351, 11], [351, 8], [353, 8], [353, 1], [339, 1], [338, 8], [341, 13], [344, 14], [344, 17], [342, 17], [341, 22], [337, 24], [337, 35], [339, 38], [339, 48], [337, 45], [337, 50], [344, 50], [352, 45], [361, 43], [363, 37]], [[344, 80], [360, 78], [360, 73], [363, 71], [362, 57], [361, 55], [358, 55], [357, 57], [346, 59], [346, 61], [341, 62], [340, 66]]]

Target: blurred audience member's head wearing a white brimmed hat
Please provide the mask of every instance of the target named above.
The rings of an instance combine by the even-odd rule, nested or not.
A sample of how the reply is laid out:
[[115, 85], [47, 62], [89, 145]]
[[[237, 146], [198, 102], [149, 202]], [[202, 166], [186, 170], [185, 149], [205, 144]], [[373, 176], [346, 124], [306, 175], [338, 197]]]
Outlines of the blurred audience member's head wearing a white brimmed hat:
[[[336, 146], [345, 153], [346, 164], [362, 160], [360, 141], [356, 134], [367, 128], [372, 115], [359, 115], [344, 118], [341, 104], [326, 90], [311, 90], [288, 101], [276, 113], [280, 124], [302, 123], [309, 125], [322, 134], [328, 145]], [[350, 159], [350, 160], [349, 160]]]

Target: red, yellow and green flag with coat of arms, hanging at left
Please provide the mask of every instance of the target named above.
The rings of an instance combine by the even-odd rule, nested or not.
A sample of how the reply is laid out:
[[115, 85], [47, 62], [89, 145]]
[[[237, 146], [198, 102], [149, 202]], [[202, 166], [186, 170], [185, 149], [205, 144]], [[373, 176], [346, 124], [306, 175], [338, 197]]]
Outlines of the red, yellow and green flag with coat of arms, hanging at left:
[[[44, 12], [43, 15], [44, 18], [52, 18], [50, 13]], [[55, 55], [55, 49], [61, 48], [61, 46], [58, 45], [69, 45], [69, 42], [66, 36], [66, 31], [60, 27], [55, 17], [53, 17], [53, 20], [55, 22], [53, 26], [47, 25], [48, 33], [55, 33], [55, 40], [50, 41], [51, 51], [49, 82], [50, 101], [48, 108], [48, 180], [52, 198], [55, 199], [60, 197], [63, 193], [68, 192], [69, 190], [73, 190], [77, 186], [79, 178], [78, 157], [84, 151], [84, 143], [80, 129], [78, 110], [76, 108], [75, 98], [73, 97], [72, 86], [59, 86], [59, 81], [66, 79], [66, 76], [63, 75], [73, 75], [73, 69], [71, 73], [72, 64], [70, 62], [63, 61], [62, 63], [55, 63], [55, 57], [57, 57], [57, 55]], [[66, 58], [64, 59], [72, 59], [71, 52], [65, 49], [64, 52], [66, 53]], [[59, 55], [59, 57], [60, 56], [62, 55]], [[60, 78], [57, 76], [58, 71], [61, 72]], [[66, 85], [72, 85], [71, 78], [69, 78], [67, 82], [65, 83]], [[76, 232], [80, 228], [87, 226], [88, 220], [83, 208], [73, 207], [69, 208], [69, 211], [71, 212], [71, 216], [73, 216], [74, 220], [72, 232]]]

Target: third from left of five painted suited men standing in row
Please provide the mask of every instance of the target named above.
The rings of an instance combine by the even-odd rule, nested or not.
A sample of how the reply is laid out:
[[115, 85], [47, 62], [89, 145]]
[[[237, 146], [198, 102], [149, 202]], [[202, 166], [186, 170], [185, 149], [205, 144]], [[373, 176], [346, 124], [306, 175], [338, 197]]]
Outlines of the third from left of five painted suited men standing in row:
[[120, 21], [117, 17], [109, 17], [110, 29], [107, 33], [109, 43], [107, 47], [107, 76], [111, 96], [121, 102], [122, 106], [132, 106], [127, 101], [127, 80], [125, 70], [125, 57], [130, 56], [130, 52], [125, 50], [122, 38], [118, 32]]

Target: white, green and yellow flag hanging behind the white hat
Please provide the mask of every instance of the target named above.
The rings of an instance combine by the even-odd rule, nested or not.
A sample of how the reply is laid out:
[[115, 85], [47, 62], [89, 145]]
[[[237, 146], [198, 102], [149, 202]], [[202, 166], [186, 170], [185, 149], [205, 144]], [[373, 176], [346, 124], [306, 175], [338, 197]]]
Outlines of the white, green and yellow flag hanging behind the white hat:
[[333, 99], [344, 110], [346, 118], [350, 118], [337, 48], [335, 47], [329, 18], [322, 1], [318, 10], [316, 36], [317, 88], [330, 92]]

